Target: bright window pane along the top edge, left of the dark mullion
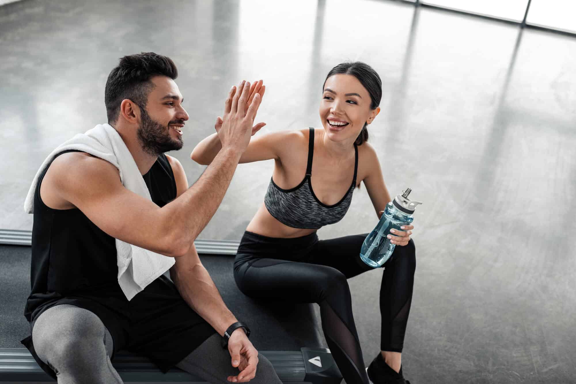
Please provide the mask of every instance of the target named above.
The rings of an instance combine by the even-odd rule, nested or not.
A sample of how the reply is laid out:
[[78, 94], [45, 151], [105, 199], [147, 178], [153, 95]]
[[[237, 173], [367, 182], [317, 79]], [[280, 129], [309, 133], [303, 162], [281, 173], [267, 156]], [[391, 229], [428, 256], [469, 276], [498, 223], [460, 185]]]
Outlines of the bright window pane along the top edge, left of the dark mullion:
[[[549, 0], [540, 1], [548, 2]], [[513, 21], [524, 20], [526, 5], [528, 5], [528, 0], [425, 0], [420, 2]]]

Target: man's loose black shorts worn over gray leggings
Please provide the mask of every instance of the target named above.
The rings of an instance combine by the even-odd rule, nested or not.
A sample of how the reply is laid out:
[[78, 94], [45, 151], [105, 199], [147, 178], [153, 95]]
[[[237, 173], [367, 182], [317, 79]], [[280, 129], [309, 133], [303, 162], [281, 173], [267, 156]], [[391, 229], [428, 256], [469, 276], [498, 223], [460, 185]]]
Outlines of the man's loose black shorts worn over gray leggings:
[[[180, 296], [176, 286], [161, 276], [128, 301], [124, 295], [71, 295], [47, 303], [32, 321], [32, 327], [44, 310], [55, 305], [70, 304], [96, 314], [111, 333], [114, 353], [127, 350], [146, 356], [168, 371], [194, 351], [215, 330]], [[32, 336], [22, 340], [36, 362], [56, 378], [54, 371], [36, 355]], [[113, 354], [112, 354], [113, 358]]]

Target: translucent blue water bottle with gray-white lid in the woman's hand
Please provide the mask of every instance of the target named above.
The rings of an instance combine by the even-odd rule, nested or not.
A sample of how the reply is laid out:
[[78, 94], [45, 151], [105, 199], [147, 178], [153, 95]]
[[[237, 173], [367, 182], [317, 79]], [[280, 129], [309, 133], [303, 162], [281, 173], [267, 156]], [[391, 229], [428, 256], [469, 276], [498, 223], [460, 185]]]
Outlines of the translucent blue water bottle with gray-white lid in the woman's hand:
[[408, 225], [414, 220], [412, 214], [416, 206], [422, 202], [408, 199], [411, 191], [407, 188], [406, 191], [402, 191], [401, 195], [397, 195], [395, 199], [386, 204], [378, 225], [370, 232], [370, 235], [366, 236], [360, 250], [360, 258], [370, 267], [381, 267], [394, 252], [396, 244], [392, 244], [386, 237], [390, 230], [394, 228], [402, 231], [400, 226]]

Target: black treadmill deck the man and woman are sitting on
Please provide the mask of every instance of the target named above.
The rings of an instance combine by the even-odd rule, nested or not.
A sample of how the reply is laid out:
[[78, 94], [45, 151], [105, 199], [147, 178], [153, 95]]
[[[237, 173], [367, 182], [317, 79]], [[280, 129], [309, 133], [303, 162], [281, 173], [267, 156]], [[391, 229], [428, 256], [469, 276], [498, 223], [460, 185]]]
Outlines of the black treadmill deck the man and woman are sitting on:
[[[342, 375], [325, 349], [313, 306], [257, 301], [242, 294], [232, 275], [234, 247], [228, 243], [223, 250], [228, 255], [201, 253], [200, 258], [226, 305], [250, 325], [252, 343], [272, 362], [281, 380], [340, 383]], [[216, 242], [203, 245], [222, 249]], [[204, 247], [198, 248], [202, 252]], [[53, 382], [20, 344], [29, 335], [23, 311], [30, 290], [30, 250], [22, 245], [0, 245], [0, 382]], [[149, 360], [130, 352], [119, 352], [112, 363], [125, 382], [203, 382], [177, 368], [162, 374]]]

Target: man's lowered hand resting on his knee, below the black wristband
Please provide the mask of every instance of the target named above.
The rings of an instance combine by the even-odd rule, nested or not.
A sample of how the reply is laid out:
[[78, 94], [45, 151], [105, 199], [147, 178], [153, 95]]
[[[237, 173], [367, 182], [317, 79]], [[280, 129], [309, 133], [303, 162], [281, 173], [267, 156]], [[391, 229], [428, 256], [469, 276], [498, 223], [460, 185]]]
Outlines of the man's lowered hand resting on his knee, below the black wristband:
[[237, 376], [229, 376], [228, 381], [245, 383], [256, 377], [258, 364], [258, 351], [252, 345], [244, 329], [237, 328], [228, 340], [228, 352], [232, 356], [232, 366], [240, 370]]

